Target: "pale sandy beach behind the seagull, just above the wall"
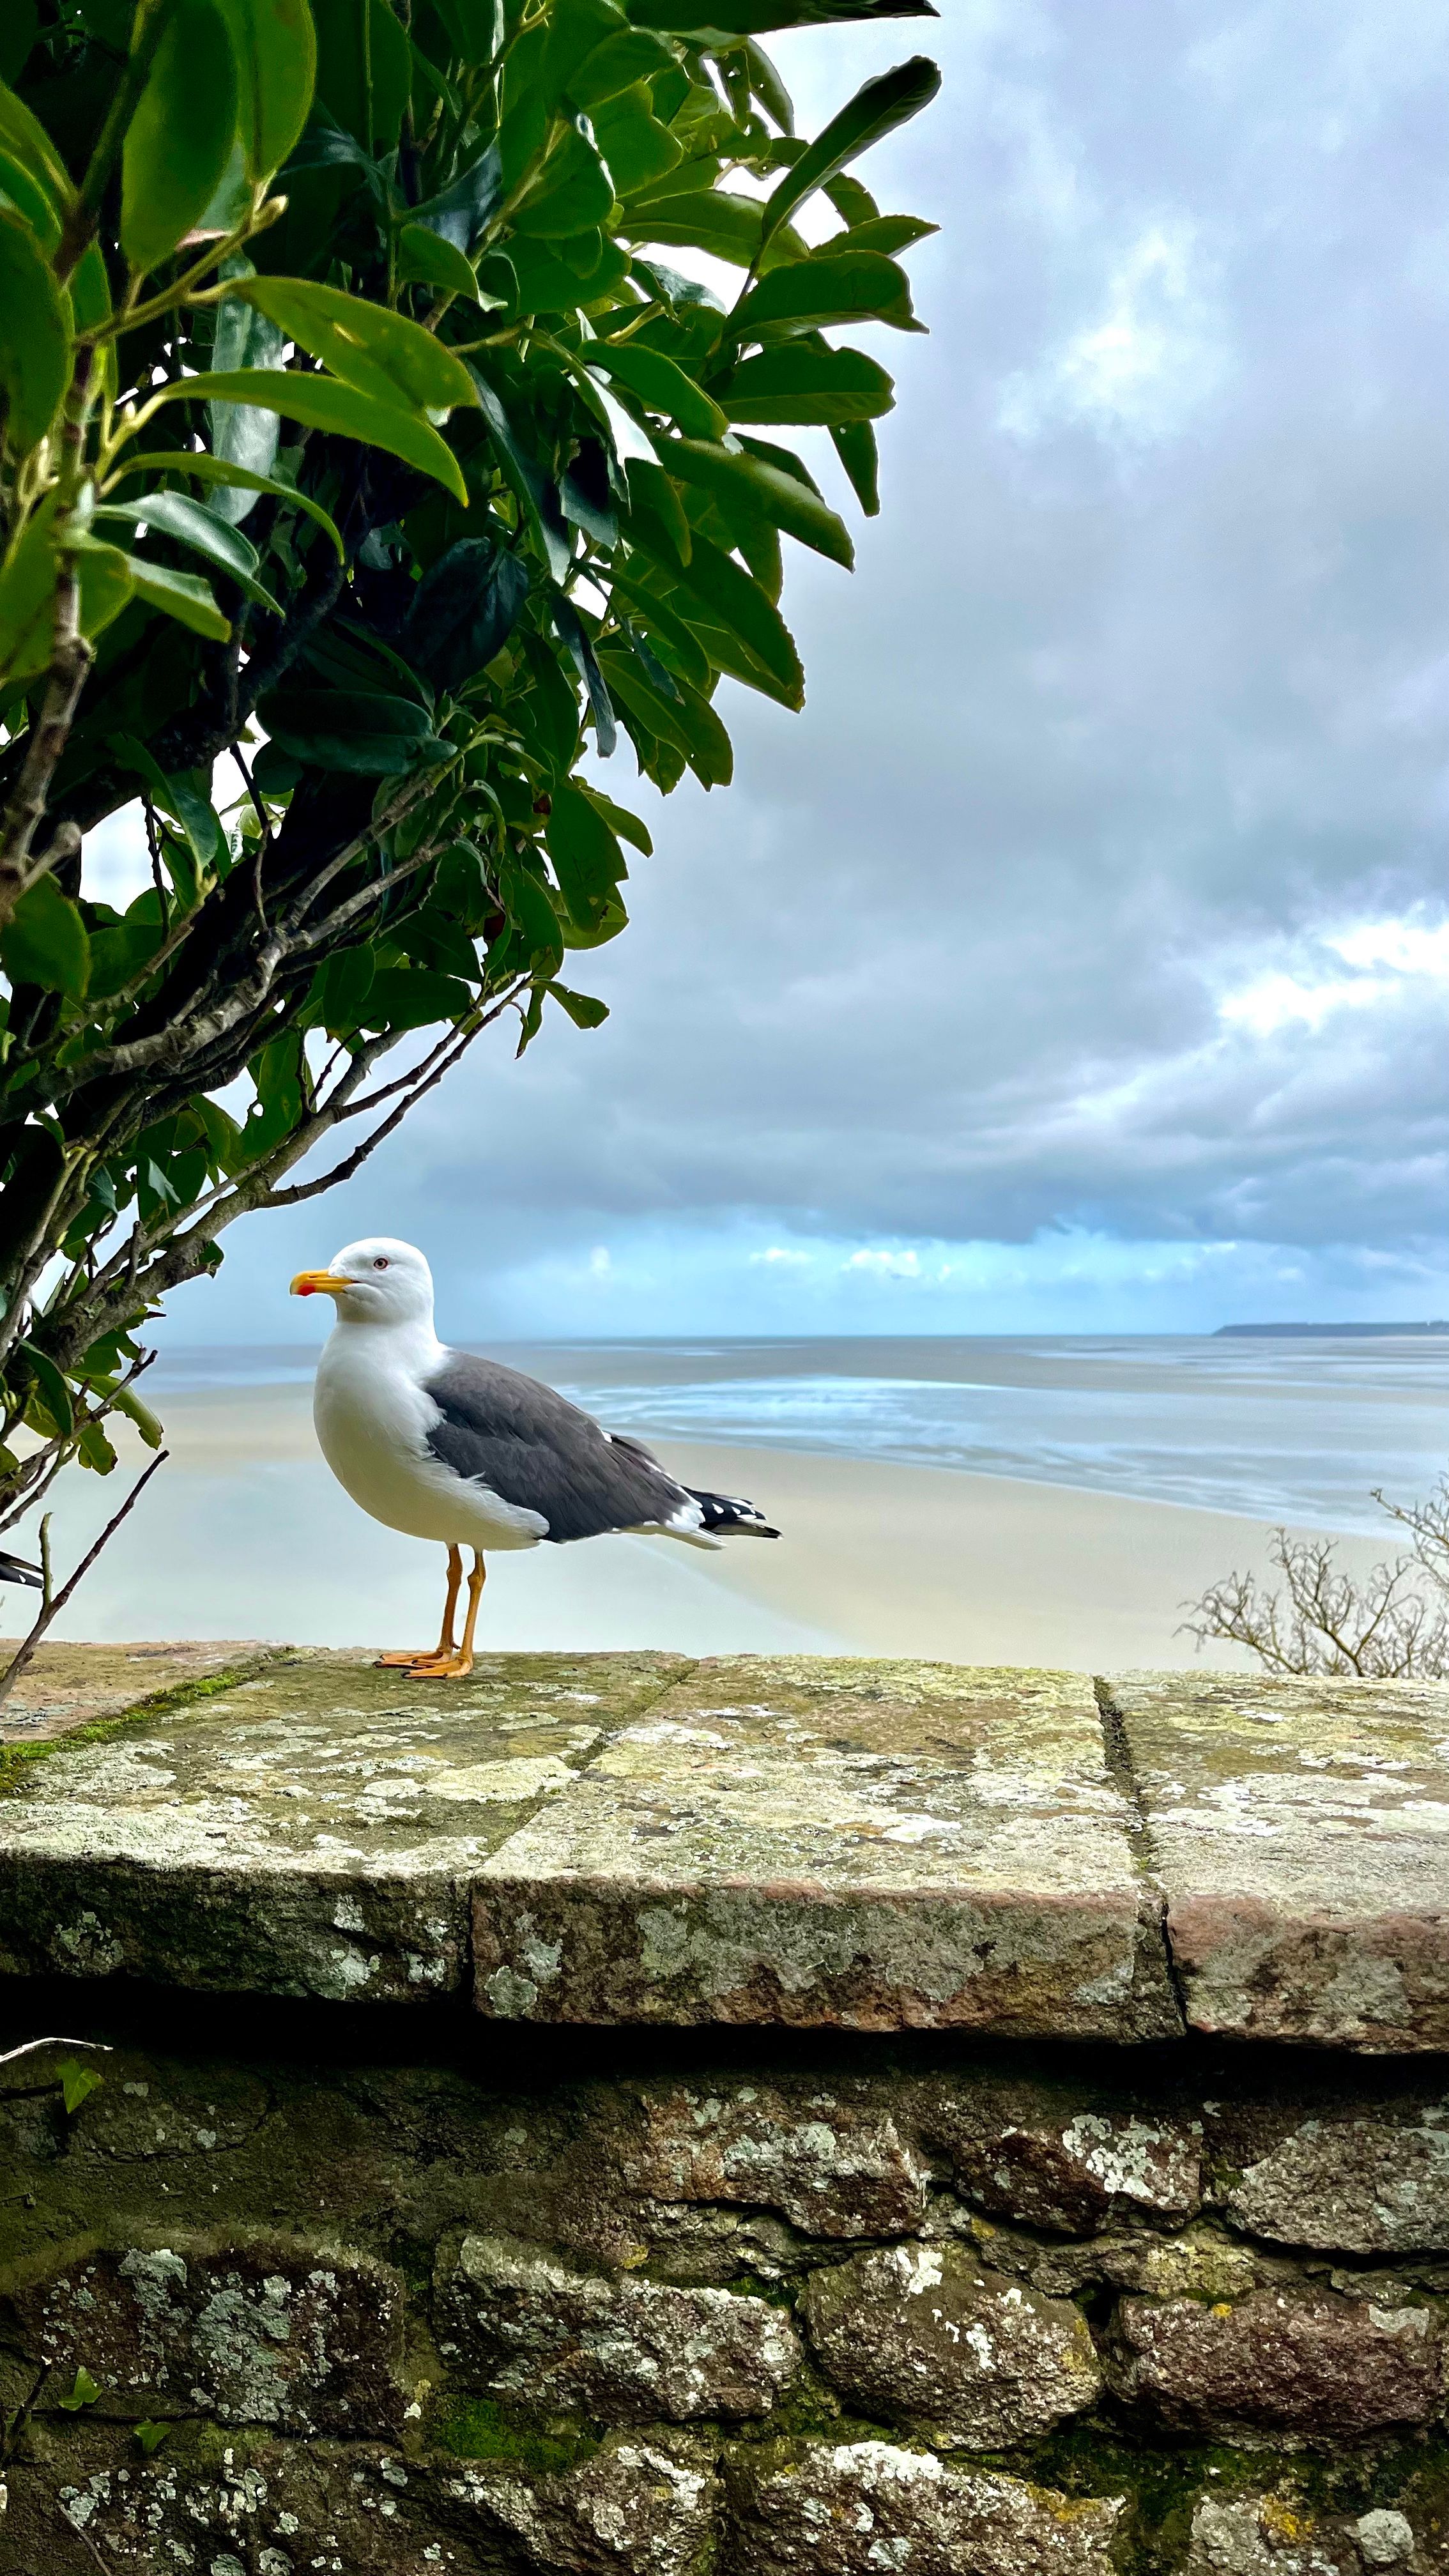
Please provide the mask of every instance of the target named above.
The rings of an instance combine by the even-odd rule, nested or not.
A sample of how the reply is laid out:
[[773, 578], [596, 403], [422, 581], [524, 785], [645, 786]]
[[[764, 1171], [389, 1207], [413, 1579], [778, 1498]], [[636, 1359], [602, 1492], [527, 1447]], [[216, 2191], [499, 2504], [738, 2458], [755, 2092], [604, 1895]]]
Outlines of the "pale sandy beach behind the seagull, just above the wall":
[[[348, 1502], [317, 1453], [309, 1388], [170, 1394], [165, 1419], [168, 1466], [59, 1633], [322, 1646], [436, 1633], [441, 1551]], [[142, 1455], [129, 1450], [126, 1468]], [[1232, 1512], [781, 1448], [663, 1440], [660, 1455], [691, 1484], [758, 1499], [781, 1540], [701, 1553], [601, 1538], [495, 1556], [480, 1638], [1101, 1672], [1191, 1662], [1191, 1638], [1176, 1633], [1181, 1605], [1230, 1566], [1266, 1569], [1269, 1525]], [[121, 1492], [119, 1476], [67, 1479], [54, 1520], [62, 1571]], [[1366, 1538], [1341, 1546], [1359, 1569], [1385, 1553]], [[1250, 1662], [1225, 1649], [1207, 1659]]]

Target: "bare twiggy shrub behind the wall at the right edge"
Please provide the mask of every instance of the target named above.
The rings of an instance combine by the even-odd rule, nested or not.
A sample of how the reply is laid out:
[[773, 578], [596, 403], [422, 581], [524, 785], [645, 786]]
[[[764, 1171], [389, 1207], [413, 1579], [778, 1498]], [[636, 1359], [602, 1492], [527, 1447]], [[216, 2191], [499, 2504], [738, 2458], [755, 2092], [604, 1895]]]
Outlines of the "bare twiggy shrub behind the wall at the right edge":
[[1330, 1538], [1274, 1530], [1281, 1592], [1230, 1574], [1191, 1602], [1183, 1620], [1199, 1646], [1248, 1646], [1269, 1672], [1338, 1672], [1361, 1680], [1436, 1682], [1449, 1672], [1449, 1479], [1428, 1502], [1374, 1502], [1410, 1533], [1408, 1553], [1361, 1582], [1336, 1564]]

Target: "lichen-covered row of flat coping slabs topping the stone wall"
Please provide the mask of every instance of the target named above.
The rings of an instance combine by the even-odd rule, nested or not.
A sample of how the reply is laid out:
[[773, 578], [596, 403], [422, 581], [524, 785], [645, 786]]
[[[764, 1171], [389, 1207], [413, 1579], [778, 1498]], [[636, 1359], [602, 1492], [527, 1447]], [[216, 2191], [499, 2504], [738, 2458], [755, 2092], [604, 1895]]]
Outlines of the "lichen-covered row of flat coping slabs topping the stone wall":
[[26, 1692], [3, 1976], [1449, 2048], [1444, 1685], [62, 1646]]

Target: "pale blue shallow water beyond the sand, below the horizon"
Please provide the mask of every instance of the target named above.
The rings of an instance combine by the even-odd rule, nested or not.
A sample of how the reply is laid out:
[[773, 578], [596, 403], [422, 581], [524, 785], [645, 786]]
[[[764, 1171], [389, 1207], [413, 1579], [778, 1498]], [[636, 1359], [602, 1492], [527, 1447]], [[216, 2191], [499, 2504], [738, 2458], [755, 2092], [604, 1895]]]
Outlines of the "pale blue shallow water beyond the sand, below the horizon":
[[[554, 1342], [498, 1358], [616, 1430], [972, 1468], [1385, 1530], [1449, 1468], [1449, 1334]], [[315, 1347], [173, 1350], [157, 1394], [289, 1386]]]

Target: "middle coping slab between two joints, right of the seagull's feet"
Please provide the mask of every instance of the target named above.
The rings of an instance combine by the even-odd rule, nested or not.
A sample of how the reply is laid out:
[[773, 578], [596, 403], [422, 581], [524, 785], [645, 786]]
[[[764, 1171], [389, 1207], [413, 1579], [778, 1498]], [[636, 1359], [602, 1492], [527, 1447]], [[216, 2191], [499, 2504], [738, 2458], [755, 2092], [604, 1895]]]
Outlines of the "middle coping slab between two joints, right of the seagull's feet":
[[477, 2004], [1176, 2035], [1134, 1821], [1078, 1674], [701, 1664], [482, 1862]]

